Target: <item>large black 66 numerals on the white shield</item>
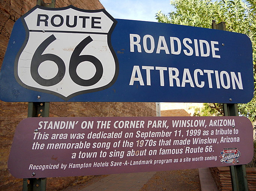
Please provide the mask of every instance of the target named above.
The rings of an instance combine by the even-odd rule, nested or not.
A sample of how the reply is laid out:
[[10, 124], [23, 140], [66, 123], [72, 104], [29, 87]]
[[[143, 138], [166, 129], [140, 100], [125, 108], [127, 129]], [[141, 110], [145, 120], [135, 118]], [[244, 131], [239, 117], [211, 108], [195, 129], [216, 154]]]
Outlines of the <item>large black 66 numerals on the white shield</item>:
[[[31, 66], [30, 66], [30, 73], [34, 81], [36, 81], [38, 84], [43, 86], [52, 86], [58, 84], [64, 77], [66, 72], [66, 66], [64, 64], [64, 61], [58, 57], [55, 54], [43, 54], [43, 51], [51, 44], [53, 41], [55, 41], [56, 38], [52, 34], [48, 38], [46, 38], [40, 45], [37, 47], [32, 60], [31, 60]], [[81, 86], [91, 86], [96, 84], [103, 75], [103, 66], [99, 59], [97, 59], [95, 56], [92, 55], [81, 55], [82, 50], [91, 42], [93, 39], [88, 36], [84, 40], [82, 40], [74, 49], [70, 60], [69, 60], [69, 75], [70, 78], [78, 85]], [[58, 73], [54, 78], [51, 79], [44, 79], [42, 78], [38, 73], [38, 68], [42, 62], [45, 61], [52, 61], [55, 62], [58, 66]], [[93, 78], [91, 79], [82, 79], [80, 78], [76, 73], [76, 68], [81, 62], [91, 62], [96, 68], [96, 73], [94, 74]]]

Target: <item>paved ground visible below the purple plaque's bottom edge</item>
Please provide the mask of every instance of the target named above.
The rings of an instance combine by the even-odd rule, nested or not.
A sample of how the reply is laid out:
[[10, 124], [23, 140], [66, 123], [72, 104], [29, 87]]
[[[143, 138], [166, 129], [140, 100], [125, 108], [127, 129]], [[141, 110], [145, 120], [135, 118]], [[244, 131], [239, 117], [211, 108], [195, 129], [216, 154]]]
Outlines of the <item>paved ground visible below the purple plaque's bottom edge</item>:
[[62, 191], [217, 191], [210, 170], [187, 169], [95, 176]]

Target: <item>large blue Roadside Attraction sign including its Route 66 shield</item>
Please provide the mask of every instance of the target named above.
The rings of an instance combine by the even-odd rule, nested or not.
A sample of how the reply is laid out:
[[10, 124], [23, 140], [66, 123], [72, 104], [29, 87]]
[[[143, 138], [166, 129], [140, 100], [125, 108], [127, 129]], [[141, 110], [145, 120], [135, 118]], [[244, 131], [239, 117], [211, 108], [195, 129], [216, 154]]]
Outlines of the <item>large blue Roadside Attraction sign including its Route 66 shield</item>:
[[114, 19], [106, 10], [35, 6], [13, 26], [3, 101], [247, 103], [244, 34]]

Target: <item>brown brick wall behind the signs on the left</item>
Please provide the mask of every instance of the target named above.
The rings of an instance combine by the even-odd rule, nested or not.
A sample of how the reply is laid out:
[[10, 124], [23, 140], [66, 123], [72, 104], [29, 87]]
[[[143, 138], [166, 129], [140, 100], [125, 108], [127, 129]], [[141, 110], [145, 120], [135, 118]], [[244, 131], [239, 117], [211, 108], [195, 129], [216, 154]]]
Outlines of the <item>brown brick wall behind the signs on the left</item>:
[[[46, 3], [51, 3], [50, 0]], [[81, 9], [104, 8], [98, 0], [56, 0], [56, 7], [72, 4]], [[0, 66], [15, 21], [36, 5], [36, 0], [0, 0]], [[27, 118], [27, 103], [0, 101], [0, 190], [21, 190], [22, 179], [7, 170], [7, 160], [18, 123]], [[50, 117], [81, 116], [156, 116], [155, 103], [50, 103]], [[61, 189], [76, 179], [88, 177], [47, 178], [48, 189]]]

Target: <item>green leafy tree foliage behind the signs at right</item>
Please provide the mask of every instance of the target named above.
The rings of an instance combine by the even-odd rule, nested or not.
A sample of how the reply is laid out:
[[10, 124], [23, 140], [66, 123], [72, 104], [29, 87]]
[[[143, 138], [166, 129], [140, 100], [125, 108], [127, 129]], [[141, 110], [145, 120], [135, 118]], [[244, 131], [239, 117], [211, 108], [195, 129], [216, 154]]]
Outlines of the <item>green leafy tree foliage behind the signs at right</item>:
[[[252, 41], [254, 90], [256, 92], [256, 1], [255, 0], [171, 0], [175, 11], [168, 15], [159, 11], [158, 22], [212, 28], [212, 21], [226, 23], [227, 31], [246, 34]], [[241, 115], [256, 119], [256, 96], [247, 104], [238, 104]], [[195, 115], [223, 115], [220, 104], [204, 104], [204, 108]]]

